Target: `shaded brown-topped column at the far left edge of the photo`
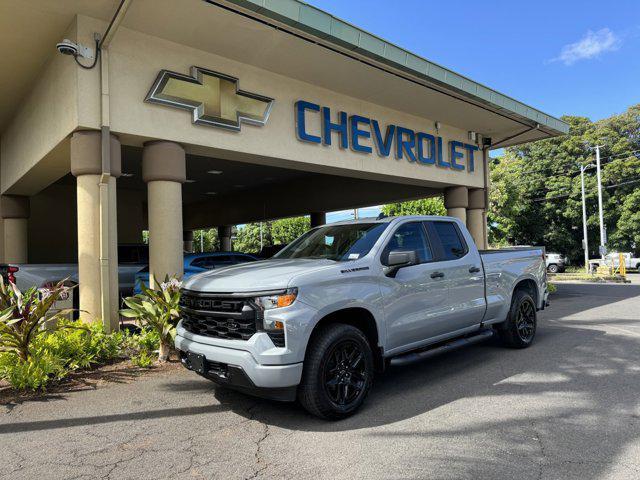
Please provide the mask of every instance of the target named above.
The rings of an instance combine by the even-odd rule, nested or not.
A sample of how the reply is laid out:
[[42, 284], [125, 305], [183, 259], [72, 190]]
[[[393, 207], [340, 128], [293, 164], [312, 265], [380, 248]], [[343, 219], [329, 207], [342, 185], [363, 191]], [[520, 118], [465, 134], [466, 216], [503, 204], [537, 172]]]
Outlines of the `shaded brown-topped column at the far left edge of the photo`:
[[29, 197], [2, 195], [0, 212], [4, 224], [4, 261], [6, 263], [27, 263]]

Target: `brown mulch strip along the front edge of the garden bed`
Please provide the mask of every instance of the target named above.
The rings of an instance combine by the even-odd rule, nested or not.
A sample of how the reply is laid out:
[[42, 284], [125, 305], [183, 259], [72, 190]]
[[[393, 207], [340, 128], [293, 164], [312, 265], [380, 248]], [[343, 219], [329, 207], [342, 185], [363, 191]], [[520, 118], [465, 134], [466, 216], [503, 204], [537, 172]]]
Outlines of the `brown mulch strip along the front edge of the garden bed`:
[[0, 405], [16, 404], [27, 400], [60, 398], [66, 393], [95, 390], [110, 383], [129, 383], [147, 375], [168, 374], [184, 368], [178, 360], [155, 363], [151, 368], [140, 368], [130, 360], [122, 360], [93, 369], [78, 370], [62, 380], [53, 380], [46, 391], [16, 391], [7, 382], [0, 381]]

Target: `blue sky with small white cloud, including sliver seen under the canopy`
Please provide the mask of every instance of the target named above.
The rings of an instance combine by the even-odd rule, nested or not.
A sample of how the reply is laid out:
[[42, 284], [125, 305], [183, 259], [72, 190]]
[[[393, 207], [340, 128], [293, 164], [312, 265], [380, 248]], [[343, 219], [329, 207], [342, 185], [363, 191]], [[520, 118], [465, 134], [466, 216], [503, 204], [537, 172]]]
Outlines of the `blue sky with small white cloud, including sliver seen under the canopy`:
[[556, 117], [640, 103], [640, 0], [306, 1]]

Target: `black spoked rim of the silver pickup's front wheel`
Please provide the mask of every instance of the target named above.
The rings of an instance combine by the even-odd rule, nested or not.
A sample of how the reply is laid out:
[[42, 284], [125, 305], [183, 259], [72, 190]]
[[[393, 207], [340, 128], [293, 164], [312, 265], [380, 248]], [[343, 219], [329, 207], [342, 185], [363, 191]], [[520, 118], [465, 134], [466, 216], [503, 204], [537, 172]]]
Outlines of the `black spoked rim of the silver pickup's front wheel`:
[[353, 340], [345, 340], [327, 355], [324, 386], [327, 395], [337, 405], [348, 407], [356, 402], [367, 382], [362, 347]]

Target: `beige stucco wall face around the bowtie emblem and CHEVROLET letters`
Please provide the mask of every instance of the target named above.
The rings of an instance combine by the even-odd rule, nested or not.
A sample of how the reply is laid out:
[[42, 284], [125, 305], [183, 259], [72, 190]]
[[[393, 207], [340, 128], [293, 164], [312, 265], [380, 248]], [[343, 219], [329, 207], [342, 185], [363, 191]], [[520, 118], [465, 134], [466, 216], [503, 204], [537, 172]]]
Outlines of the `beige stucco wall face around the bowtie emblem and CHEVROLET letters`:
[[[85, 24], [81, 18], [80, 26]], [[89, 20], [86, 25], [92, 25]], [[209, 153], [220, 157], [269, 163], [281, 159], [280, 165], [303, 170], [321, 170], [400, 182], [439, 182], [481, 187], [483, 184], [481, 155], [476, 153], [475, 172], [453, 171], [436, 166], [409, 163], [375, 153], [361, 154], [351, 150], [300, 142], [295, 134], [294, 103], [304, 99], [377, 119], [381, 126], [394, 123], [416, 131], [435, 134], [433, 119], [408, 115], [374, 103], [348, 97], [314, 85], [274, 74], [251, 65], [160, 38], [121, 28], [110, 47], [111, 126], [125, 133], [123, 141], [138, 142], [158, 138], [180, 142], [188, 152]], [[161, 69], [188, 73], [197, 65], [220, 71], [240, 79], [240, 88], [275, 98], [266, 126], [243, 125], [241, 132], [196, 126], [190, 113], [175, 108], [144, 103], [144, 98]], [[319, 115], [315, 116], [316, 119]], [[310, 120], [309, 129], [317, 129]], [[446, 142], [467, 142], [467, 132], [443, 126], [439, 134]], [[134, 136], [134, 137], [130, 137]], [[335, 140], [334, 140], [335, 142]], [[239, 152], [233, 153], [233, 152]], [[272, 162], [273, 164], [273, 162]]]

